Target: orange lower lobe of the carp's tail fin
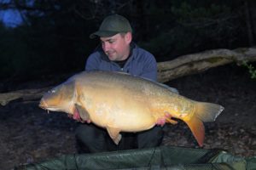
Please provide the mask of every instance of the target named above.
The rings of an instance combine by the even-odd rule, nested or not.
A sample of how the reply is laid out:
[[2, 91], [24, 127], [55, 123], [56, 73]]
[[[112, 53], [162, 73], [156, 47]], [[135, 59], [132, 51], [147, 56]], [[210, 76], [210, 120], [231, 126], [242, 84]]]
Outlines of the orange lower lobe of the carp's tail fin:
[[195, 136], [197, 143], [200, 146], [203, 146], [203, 142], [205, 139], [205, 127], [203, 122], [201, 122], [201, 120], [197, 116], [192, 116], [188, 120], [184, 119], [183, 121], [188, 124], [190, 130]]

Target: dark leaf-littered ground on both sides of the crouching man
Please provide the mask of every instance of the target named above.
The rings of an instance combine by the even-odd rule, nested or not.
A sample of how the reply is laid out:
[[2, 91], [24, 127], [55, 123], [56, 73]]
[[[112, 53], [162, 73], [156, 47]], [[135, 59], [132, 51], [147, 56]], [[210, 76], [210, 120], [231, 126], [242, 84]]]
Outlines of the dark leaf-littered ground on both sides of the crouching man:
[[[48, 82], [52, 82], [50, 78]], [[45, 79], [41, 82], [9, 82], [8, 90], [49, 84]], [[203, 148], [220, 148], [234, 156], [256, 156], [256, 80], [249, 77], [246, 69], [228, 65], [166, 84], [177, 88], [180, 94], [190, 99], [224, 106], [225, 110], [216, 122], [206, 123]], [[0, 88], [6, 86], [0, 84]], [[3, 92], [3, 89], [0, 90]], [[15, 101], [0, 106], [1, 169], [77, 153], [74, 129], [78, 124], [60, 112], [47, 114], [38, 108], [38, 101]], [[183, 122], [167, 125], [165, 131], [163, 144], [198, 148]]]

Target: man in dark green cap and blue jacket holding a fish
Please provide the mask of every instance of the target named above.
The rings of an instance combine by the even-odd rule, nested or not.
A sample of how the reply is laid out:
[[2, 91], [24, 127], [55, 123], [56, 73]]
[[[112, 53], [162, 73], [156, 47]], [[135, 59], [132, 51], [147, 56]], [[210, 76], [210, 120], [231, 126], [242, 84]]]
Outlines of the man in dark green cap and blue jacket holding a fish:
[[[99, 37], [102, 47], [90, 54], [85, 71], [123, 71], [156, 81], [154, 56], [131, 41], [131, 32], [131, 25], [123, 16], [113, 14], [103, 20], [99, 30], [90, 35], [90, 38]], [[106, 129], [92, 123], [84, 123], [76, 130], [79, 153], [155, 147], [160, 145], [163, 131], [162, 127], [155, 126], [141, 133], [122, 133], [122, 136], [116, 145]]]

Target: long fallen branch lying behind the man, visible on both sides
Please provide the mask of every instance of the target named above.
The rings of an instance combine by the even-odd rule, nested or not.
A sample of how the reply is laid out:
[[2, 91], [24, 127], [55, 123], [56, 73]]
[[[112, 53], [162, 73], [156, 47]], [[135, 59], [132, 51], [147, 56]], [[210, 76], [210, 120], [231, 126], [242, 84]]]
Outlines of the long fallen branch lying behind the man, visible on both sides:
[[[214, 49], [198, 54], [183, 55], [177, 59], [158, 63], [158, 81], [168, 82], [177, 77], [196, 74], [232, 62], [241, 65], [243, 60], [249, 62], [256, 61], [256, 48], [236, 48], [235, 50]], [[3, 93], [0, 94], [0, 104], [7, 105], [15, 99], [25, 101], [40, 99], [49, 88], [26, 89]]]

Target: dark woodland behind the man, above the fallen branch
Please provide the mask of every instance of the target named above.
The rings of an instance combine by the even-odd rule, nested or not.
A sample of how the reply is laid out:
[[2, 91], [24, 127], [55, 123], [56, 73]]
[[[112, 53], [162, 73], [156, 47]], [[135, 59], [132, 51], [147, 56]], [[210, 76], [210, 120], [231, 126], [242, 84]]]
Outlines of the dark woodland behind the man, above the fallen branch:
[[20, 12], [19, 26], [0, 23], [0, 79], [35, 79], [84, 71], [99, 41], [91, 40], [108, 14], [124, 15], [133, 38], [157, 61], [215, 48], [252, 47], [253, 0], [3, 0]]

